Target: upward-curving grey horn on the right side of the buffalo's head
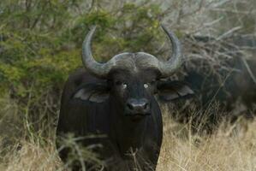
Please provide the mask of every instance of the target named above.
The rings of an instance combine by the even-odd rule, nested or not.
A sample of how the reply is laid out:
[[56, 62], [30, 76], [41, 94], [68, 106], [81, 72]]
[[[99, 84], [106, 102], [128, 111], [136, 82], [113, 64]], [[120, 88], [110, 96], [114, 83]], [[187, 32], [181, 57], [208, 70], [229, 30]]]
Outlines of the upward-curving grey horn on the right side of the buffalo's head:
[[182, 45], [173, 32], [168, 32], [164, 25], [161, 25], [161, 27], [170, 38], [172, 55], [167, 62], [159, 62], [158, 69], [160, 70], [162, 77], [168, 77], [171, 74], [174, 74], [176, 69], [180, 68], [182, 65]]

